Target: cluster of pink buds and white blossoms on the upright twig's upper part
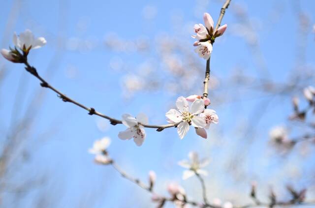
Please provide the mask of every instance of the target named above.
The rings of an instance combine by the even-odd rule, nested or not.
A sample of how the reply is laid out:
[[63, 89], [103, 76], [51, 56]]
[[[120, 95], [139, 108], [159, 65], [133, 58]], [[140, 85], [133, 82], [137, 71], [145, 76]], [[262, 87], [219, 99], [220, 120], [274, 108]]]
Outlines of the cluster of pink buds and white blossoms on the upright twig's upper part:
[[198, 40], [193, 44], [197, 46], [195, 52], [199, 54], [199, 57], [207, 60], [212, 53], [212, 41], [224, 33], [227, 25], [222, 25], [218, 30], [215, 30], [213, 19], [209, 13], [204, 13], [203, 20], [206, 27], [202, 24], [195, 24], [193, 30], [196, 34], [191, 37]]

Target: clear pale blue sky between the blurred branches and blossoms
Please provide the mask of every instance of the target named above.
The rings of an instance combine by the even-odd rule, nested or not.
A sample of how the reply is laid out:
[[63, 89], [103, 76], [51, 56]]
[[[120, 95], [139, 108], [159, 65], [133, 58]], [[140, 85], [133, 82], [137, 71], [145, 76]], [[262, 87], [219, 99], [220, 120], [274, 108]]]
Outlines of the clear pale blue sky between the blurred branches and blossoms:
[[[13, 5], [17, 2], [20, 2], [20, 7], [15, 13], [17, 10]], [[105, 47], [104, 38], [113, 33], [122, 40], [143, 37], [154, 47], [157, 46], [158, 37], [170, 36], [180, 41], [183, 47], [190, 47], [192, 51], [192, 29], [190, 32], [189, 27], [202, 23], [203, 12], [209, 12], [215, 21], [219, 15], [222, 3], [216, 0], [207, 2], [4, 1], [0, 8], [1, 47], [13, 45], [11, 35], [14, 31], [19, 33], [30, 29], [36, 36], [44, 36], [47, 45], [33, 50], [29, 61], [57, 89], [106, 115], [120, 118], [123, 113], [136, 116], [143, 112], [149, 116], [150, 123], [162, 124], [166, 123], [164, 114], [174, 105], [177, 96], [187, 96], [191, 91], [173, 94], [163, 88], [151, 92], [136, 92], [132, 98], [127, 99], [123, 95], [122, 77], [135, 73], [145, 60], [159, 63], [160, 58], [154, 48], [142, 53], [110, 50]], [[301, 39], [297, 31], [297, 7], [292, 2], [237, 1], [247, 8], [254, 30], [257, 31], [269, 78], [280, 83], [287, 81], [297, 64], [297, 45], [305, 38], [303, 36]], [[301, 0], [300, 5], [309, 15], [310, 25], [313, 25], [315, 2]], [[12, 8], [13, 12], [10, 13]], [[145, 18], [146, 16], [149, 16], [149, 19]], [[314, 156], [303, 159], [303, 162], [298, 150], [286, 158], [274, 156], [274, 152], [268, 149], [266, 131], [274, 125], [287, 122], [286, 119], [291, 113], [290, 98], [294, 93], [301, 92], [292, 92], [289, 96], [268, 96], [259, 90], [244, 90], [243, 86], [230, 88], [226, 80], [237, 66], [248, 76], [257, 77], [259, 74], [246, 41], [235, 35], [237, 30], [241, 30], [237, 28], [240, 20], [235, 16], [235, 12], [229, 8], [222, 23], [227, 24], [228, 29], [216, 41], [211, 60], [212, 74], [220, 79], [221, 85], [218, 91], [210, 91], [211, 108], [218, 112], [220, 123], [210, 128], [206, 141], [198, 138], [192, 129], [184, 140], [178, 138], [175, 129], [165, 129], [160, 133], [147, 129], [147, 139], [140, 148], [132, 141], [121, 141], [117, 134], [125, 129], [123, 125], [108, 125], [105, 131], [100, 131], [96, 125], [98, 118], [87, 115], [87, 112], [76, 106], [63, 103], [53, 92], [40, 89], [38, 81], [30, 76], [21, 64], [9, 63], [1, 57], [0, 66], [5, 64], [7, 68], [5, 79], [1, 80], [0, 91], [1, 99], [4, 100], [0, 102], [0, 124], [4, 135], [10, 133], [11, 123], [22, 118], [36, 91], [44, 92], [42, 106], [28, 112], [30, 117], [35, 119], [23, 145], [25, 149], [29, 149], [30, 159], [22, 162], [18, 173], [25, 173], [30, 178], [40, 178], [44, 175], [47, 182], [43, 188], [34, 188], [17, 206], [24, 204], [26, 207], [32, 207], [33, 201], [39, 196], [38, 193], [58, 199], [57, 202], [52, 200], [56, 203], [54, 205], [48, 202], [52, 207], [81, 205], [123, 208], [126, 203], [130, 207], [152, 206], [150, 195], [145, 191], [120, 178], [111, 167], [93, 163], [93, 155], [88, 154], [87, 149], [93, 145], [95, 139], [104, 136], [112, 139], [109, 152], [127, 173], [146, 181], [147, 173], [150, 170], [156, 171], [157, 191], [161, 193], [166, 193], [168, 181], [176, 180], [187, 188], [189, 195], [201, 200], [201, 195], [198, 195], [199, 187], [192, 185], [196, 180], [182, 181], [182, 168], [177, 165], [177, 161], [186, 158], [190, 150], [198, 151], [201, 157], [212, 158], [209, 166], [210, 176], [206, 181], [210, 187], [216, 188], [209, 193], [210, 198], [222, 197], [233, 201], [236, 198], [235, 188], [242, 188], [246, 192], [251, 180], [286, 184], [294, 179], [294, 185], [297, 187], [309, 185], [312, 180], [307, 176], [314, 165], [305, 164], [312, 161]], [[79, 40], [85, 47], [78, 46], [75, 47], [78, 50], [72, 50], [70, 40]], [[306, 65], [314, 67], [314, 33], [311, 33], [311, 29], [306, 36], [306, 45]], [[127, 66], [126, 69], [113, 70], [110, 67], [111, 61], [117, 58]], [[205, 65], [203, 59], [200, 59], [200, 63]], [[154, 70], [159, 70], [155, 73], [161, 78], [165, 76], [165, 71], [160, 67]], [[200, 85], [196, 86], [194, 93], [201, 93], [202, 81], [203, 77], [200, 77]], [[305, 87], [312, 83], [314, 79], [305, 83]], [[18, 95], [18, 110], [13, 114], [13, 103], [19, 93], [22, 95]], [[237, 98], [238, 94], [238, 102], [221, 103], [215, 99], [220, 95], [223, 100], [228, 101]], [[262, 112], [261, 119], [256, 119], [255, 114], [252, 115], [252, 112], [263, 111], [265, 107], [266, 111]], [[250, 134], [255, 138], [251, 144], [248, 144], [248, 138], [240, 136], [242, 131], [246, 130], [244, 126], [255, 129], [254, 133]], [[246, 177], [240, 180], [241, 175], [235, 177], [227, 172], [227, 164], [230, 158], [234, 154], [238, 155], [242, 149], [246, 152], [245, 158], [241, 159], [242, 174], [246, 174]], [[273, 159], [275, 157], [277, 159]], [[300, 174], [298, 179], [283, 177], [284, 171], [279, 170], [289, 169], [291, 163], [299, 164], [294, 166]], [[22, 181], [23, 176], [24, 174], [16, 174], [13, 178]], [[264, 183], [263, 186], [266, 188], [267, 184]], [[246, 193], [242, 196], [246, 196]], [[14, 200], [10, 200], [8, 203], [13, 205]]]

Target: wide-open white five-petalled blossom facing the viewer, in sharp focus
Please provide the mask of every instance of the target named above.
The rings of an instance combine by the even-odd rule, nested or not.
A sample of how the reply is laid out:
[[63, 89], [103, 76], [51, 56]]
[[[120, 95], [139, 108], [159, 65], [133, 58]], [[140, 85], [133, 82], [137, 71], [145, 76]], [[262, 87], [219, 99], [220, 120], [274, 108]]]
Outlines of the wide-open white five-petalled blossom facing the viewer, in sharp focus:
[[177, 125], [177, 133], [181, 139], [185, 137], [191, 124], [197, 128], [206, 126], [206, 121], [198, 115], [204, 110], [204, 101], [202, 99], [195, 100], [189, 109], [189, 104], [185, 97], [180, 96], [176, 100], [177, 110], [169, 110], [165, 116], [170, 123], [179, 123]]

